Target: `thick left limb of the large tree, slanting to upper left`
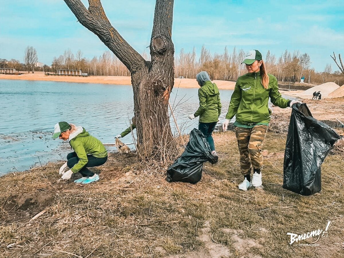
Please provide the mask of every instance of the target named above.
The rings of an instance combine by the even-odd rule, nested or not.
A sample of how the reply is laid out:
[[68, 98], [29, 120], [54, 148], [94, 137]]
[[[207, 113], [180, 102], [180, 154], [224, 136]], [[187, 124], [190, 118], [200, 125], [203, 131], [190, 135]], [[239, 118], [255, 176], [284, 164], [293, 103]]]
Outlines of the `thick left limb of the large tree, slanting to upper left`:
[[136, 73], [146, 65], [143, 57], [112, 27], [101, 6], [100, 0], [88, 0], [88, 10], [80, 0], [64, 1], [78, 21], [85, 28], [96, 34], [131, 73]]

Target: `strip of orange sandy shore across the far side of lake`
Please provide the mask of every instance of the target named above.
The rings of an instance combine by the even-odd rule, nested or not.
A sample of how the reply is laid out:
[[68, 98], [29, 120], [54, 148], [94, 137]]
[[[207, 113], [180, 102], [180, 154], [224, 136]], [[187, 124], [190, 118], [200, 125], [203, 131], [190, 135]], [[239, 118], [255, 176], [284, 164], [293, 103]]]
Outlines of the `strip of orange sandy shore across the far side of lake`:
[[[43, 72], [35, 72], [34, 74], [0, 74], [0, 79], [16, 79], [16, 80], [47, 80], [55, 82], [73, 82], [73, 83], [104, 83], [104, 84], [120, 84], [131, 85], [130, 76], [89, 76], [89, 77], [75, 77], [75, 76], [53, 76], [44, 75]], [[214, 83], [219, 89], [234, 89], [235, 82], [226, 80], [214, 80]], [[196, 79], [174, 79], [174, 87], [181, 88], [199, 88]]]

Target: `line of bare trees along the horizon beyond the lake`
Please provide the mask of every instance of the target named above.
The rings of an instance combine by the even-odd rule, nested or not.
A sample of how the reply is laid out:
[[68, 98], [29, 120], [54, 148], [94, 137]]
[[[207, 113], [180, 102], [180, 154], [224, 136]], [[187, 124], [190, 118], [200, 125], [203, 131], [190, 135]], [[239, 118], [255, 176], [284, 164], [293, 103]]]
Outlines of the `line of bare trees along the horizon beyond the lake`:
[[[110, 76], [130, 76], [129, 70], [119, 59], [111, 52], [105, 51], [101, 56], [94, 56], [92, 59], [84, 57], [83, 52], [78, 50], [74, 55], [70, 49], [64, 51], [58, 57], [53, 58], [51, 67], [35, 67], [37, 53], [33, 47], [27, 47], [25, 50], [24, 63], [19, 60], [0, 58], [0, 67], [15, 68], [18, 71], [25, 71], [25, 68], [31, 71], [49, 71], [57, 73], [58, 69], [76, 69], [82, 70], [89, 75], [110, 75]], [[175, 55], [175, 77], [195, 78], [200, 71], [207, 71], [214, 80], [236, 80], [239, 76], [246, 73], [246, 68], [241, 65], [245, 52], [236, 47], [229, 53], [225, 47], [222, 54], [211, 54], [209, 50], [202, 46], [200, 56], [197, 58], [196, 49], [192, 52], [185, 52], [181, 49], [179, 54]], [[142, 53], [142, 57], [148, 60], [148, 54]], [[278, 58], [268, 50], [263, 57], [269, 73], [276, 76], [279, 82], [295, 83], [299, 82], [304, 76], [305, 83], [322, 84], [324, 82], [344, 83], [344, 67], [341, 67], [341, 55], [339, 62], [335, 54], [332, 59], [340, 70], [333, 71], [331, 64], [326, 64], [323, 72], [315, 72], [310, 68], [310, 56], [307, 53], [301, 54], [299, 51], [293, 53], [284, 51]], [[32, 59], [33, 58], [33, 59]], [[31, 61], [30, 61], [31, 60]], [[35, 62], [33, 62], [35, 61]], [[336, 81], [337, 82], [337, 81]]]

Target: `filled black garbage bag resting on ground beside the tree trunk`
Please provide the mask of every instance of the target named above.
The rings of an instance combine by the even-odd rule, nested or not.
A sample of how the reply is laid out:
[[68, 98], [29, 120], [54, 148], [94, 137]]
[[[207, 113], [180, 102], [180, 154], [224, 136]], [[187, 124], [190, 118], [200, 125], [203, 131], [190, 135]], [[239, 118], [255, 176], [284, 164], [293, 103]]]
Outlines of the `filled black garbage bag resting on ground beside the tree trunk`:
[[183, 154], [167, 169], [168, 182], [186, 182], [195, 184], [202, 178], [203, 163], [213, 164], [213, 155], [209, 143], [200, 130], [194, 128]]

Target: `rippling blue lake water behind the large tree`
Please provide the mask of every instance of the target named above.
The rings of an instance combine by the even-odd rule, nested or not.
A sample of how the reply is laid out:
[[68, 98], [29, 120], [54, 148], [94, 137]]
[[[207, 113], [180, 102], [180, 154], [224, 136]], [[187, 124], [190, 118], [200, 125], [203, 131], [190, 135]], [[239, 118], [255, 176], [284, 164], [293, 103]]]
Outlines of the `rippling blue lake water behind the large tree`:
[[[224, 119], [232, 90], [220, 92]], [[198, 119], [187, 118], [198, 108], [197, 89], [174, 88], [171, 105], [179, 101], [174, 115], [188, 133], [198, 123]], [[71, 152], [68, 142], [51, 138], [59, 121], [82, 126], [103, 143], [114, 143], [133, 116], [133, 93], [130, 85], [1, 79], [0, 110], [1, 175], [65, 160]], [[171, 127], [176, 134], [172, 118]], [[132, 143], [131, 134], [122, 141]], [[106, 148], [116, 151], [115, 147]]]

